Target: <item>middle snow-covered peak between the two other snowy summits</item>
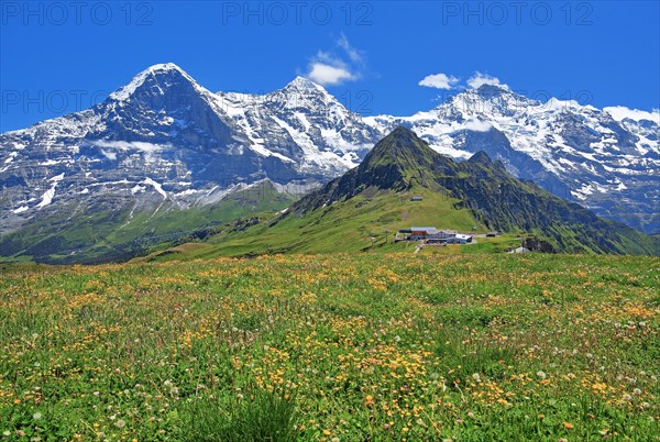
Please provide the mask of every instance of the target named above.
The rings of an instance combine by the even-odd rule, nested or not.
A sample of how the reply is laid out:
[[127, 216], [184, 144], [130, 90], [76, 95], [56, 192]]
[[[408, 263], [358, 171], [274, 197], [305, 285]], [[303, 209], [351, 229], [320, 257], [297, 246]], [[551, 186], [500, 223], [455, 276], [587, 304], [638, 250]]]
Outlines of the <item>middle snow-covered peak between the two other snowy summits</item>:
[[218, 92], [217, 97], [248, 135], [249, 148], [297, 164], [306, 173], [340, 175], [356, 166], [380, 135], [322, 86], [300, 76], [263, 96]]

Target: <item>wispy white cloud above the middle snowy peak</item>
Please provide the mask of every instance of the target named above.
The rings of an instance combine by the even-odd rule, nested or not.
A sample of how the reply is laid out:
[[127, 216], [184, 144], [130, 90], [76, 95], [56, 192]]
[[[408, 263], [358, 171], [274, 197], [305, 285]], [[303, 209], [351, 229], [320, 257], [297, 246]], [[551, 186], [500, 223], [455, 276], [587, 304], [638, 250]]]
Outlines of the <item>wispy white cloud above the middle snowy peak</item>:
[[336, 51], [319, 51], [304, 76], [322, 86], [359, 79], [365, 68], [364, 52], [353, 47], [343, 33], [334, 46]]

